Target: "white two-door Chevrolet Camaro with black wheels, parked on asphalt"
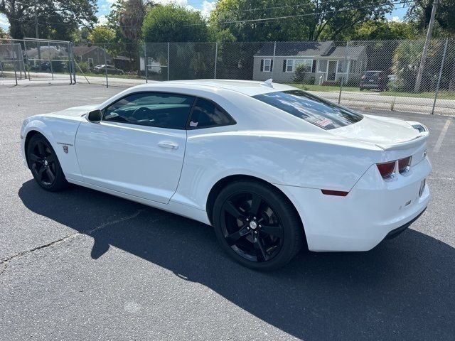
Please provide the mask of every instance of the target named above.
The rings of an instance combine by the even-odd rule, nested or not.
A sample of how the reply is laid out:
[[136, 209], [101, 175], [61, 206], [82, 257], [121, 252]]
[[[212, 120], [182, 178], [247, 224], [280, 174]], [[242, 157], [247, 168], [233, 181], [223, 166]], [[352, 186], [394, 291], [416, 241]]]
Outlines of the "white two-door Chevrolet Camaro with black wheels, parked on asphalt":
[[429, 202], [428, 129], [272, 82], [139, 85], [23, 121], [26, 165], [68, 183], [213, 225], [253, 269], [301, 249], [367, 251]]

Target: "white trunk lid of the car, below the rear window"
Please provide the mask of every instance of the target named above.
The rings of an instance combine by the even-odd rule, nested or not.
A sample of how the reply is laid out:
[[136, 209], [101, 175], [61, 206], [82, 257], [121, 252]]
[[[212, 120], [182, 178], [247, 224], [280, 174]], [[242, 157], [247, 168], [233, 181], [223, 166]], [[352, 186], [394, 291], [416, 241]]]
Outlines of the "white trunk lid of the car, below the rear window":
[[420, 143], [424, 140], [421, 138], [428, 134], [426, 128], [426, 131], [422, 133], [414, 129], [412, 123], [415, 122], [411, 123], [390, 117], [363, 116], [363, 119], [355, 124], [333, 129], [331, 133], [348, 139], [375, 144], [382, 149], [399, 148], [400, 146]]

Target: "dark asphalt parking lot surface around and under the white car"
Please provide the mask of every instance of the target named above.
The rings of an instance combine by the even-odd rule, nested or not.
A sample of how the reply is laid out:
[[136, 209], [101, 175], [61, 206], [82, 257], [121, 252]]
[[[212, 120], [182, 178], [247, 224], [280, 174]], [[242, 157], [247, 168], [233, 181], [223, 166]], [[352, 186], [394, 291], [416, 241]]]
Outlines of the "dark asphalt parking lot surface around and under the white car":
[[204, 224], [34, 183], [21, 120], [121, 90], [0, 86], [0, 340], [454, 340], [453, 118], [378, 113], [431, 132], [432, 201], [410, 229], [264, 274], [228, 259]]

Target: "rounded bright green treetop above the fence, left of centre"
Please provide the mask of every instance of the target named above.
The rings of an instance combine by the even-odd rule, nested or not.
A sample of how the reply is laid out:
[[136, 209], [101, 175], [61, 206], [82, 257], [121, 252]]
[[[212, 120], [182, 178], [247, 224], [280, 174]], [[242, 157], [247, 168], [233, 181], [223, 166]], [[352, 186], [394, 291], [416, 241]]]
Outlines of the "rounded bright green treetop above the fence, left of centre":
[[142, 26], [146, 42], [202, 42], [208, 38], [208, 28], [198, 11], [175, 4], [157, 5], [147, 13]]

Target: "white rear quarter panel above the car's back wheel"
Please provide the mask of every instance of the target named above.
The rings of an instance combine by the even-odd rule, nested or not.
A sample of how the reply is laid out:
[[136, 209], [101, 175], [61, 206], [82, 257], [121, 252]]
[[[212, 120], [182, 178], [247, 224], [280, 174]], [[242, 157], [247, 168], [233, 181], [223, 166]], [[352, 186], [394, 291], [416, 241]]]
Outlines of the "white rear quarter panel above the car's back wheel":
[[188, 131], [181, 180], [172, 200], [205, 210], [213, 185], [250, 175], [277, 185], [348, 191], [378, 159], [377, 147], [326, 136], [270, 131]]

